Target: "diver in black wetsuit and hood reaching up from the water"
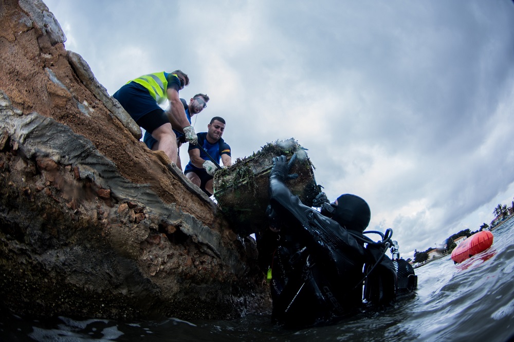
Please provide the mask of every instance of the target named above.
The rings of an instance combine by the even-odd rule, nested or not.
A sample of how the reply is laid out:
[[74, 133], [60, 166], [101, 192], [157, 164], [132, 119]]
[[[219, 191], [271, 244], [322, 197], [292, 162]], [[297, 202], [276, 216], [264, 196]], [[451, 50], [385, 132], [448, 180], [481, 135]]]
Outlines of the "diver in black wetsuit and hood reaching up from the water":
[[[285, 184], [298, 176], [288, 174], [295, 159], [293, 155], [287, 163], [285, 156], [273, 158], [269, 230], [257, 237], [261, 268], [271, 269], [273, 321], [306, 327], [356, 314], [362, 306], [363, 283], [370, 305], [393, 305], [396, 272], [384, 255], [392, 231], [373, 232], [382, 235], [380, 242], [363, 235], [371, 212], [355, 195], [323, 203], [321, 213], [304, 205]], [[320, 201], [328, 202], [326, 197]]]

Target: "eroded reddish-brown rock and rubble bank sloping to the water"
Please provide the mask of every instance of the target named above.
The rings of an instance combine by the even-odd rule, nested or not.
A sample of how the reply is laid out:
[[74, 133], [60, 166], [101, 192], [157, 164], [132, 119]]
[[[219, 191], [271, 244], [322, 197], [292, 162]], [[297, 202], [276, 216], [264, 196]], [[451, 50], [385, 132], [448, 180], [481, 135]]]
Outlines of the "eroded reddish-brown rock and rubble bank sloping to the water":
[[66, 51], [48, 8], [0, 0], [0, 295], [18, 314], [182, 319], [264, 312], [253, 239]]

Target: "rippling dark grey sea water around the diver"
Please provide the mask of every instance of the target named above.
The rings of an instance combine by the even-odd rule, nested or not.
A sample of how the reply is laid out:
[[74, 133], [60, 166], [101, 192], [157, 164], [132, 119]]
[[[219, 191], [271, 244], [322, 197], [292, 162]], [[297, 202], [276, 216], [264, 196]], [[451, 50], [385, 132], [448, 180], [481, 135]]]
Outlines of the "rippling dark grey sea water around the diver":
[[514, 219], [490, 249], [461, 264], [450, 256], [415, 270], [417, 291], [395, 308], [337, 325], [286, 330], [269, 315], [237, 320], [121, 322], [28, 320], [0, 312], [2, 341], [509, 341], [514, 339]]

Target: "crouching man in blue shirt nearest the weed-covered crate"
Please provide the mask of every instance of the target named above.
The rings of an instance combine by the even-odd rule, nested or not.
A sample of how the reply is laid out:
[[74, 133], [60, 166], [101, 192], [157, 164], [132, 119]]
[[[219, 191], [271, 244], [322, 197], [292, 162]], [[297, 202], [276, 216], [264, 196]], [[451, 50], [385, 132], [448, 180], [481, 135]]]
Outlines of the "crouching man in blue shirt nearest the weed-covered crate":
[[210, 159], [212, 158], [215, 161], [221, 159], [222, 167], [232, 165], [230, 146], [222, 139], [224, 131], [225, 120], [220, 117], [214, 117], [207, 125], [207, 132], [201, 132], [196, 135], [198, 137], [198, 145], [189, 144], [190, 161], [186, 165], [184, 174], [207, 196], [214, 194], [212, 180], [214, 174], [220, 169], [219, 165], [216, 165]]

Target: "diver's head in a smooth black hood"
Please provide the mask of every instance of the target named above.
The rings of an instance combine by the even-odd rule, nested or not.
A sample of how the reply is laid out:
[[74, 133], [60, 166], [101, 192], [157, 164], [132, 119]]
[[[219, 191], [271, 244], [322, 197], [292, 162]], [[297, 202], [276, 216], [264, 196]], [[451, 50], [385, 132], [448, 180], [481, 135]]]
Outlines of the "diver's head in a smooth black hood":
[[370, 206], [359, 196], [344, 194], [331, 203], [332, 210], [324, 210], [327, 215], [346, 229], [362, 233], [370, 224]]

